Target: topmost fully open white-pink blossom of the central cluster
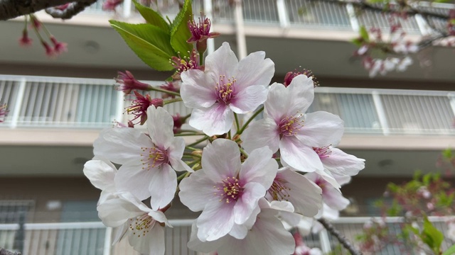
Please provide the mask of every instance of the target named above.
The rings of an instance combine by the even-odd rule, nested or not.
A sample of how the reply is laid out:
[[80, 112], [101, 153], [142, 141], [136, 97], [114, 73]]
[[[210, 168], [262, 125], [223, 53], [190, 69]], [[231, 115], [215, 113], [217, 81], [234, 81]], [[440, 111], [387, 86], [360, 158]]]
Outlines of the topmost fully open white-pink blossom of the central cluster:
[[254, 111], [267, 98], [274, 63], [265, 52], [254, 52], [237, 60], [228, 42], [205, 58], [205, 71], [189, 69], [181, 73], [181, 97], [193, 108], [189, 124], [206, 135], [228, 132], [233, 113]]

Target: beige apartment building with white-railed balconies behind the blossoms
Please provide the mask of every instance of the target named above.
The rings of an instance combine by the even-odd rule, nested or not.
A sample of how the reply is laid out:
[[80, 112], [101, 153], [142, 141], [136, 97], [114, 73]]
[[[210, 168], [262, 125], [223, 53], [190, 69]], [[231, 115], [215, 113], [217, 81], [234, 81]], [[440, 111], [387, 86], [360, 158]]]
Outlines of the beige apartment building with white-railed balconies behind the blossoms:
[[[366, 159], [365, 170], [343, 188], [359, 208], [350, 216], [373, 214], [373, 200], [387, 182], [409, 179], [415, 169], [435, 171], [441, 150], [455, 147], [453, 50], [425, 52], [431, 67], [420, 67], [416, 55], [416, 64], [406, 72], [370, 79], [351, 57], [355, 47], [349, 40], [359, 26], [387, 29], [383, 14], [356, 17], [353, 6], [325, 1], [193, 2], [195, 13], [207, 13], [214, 30], [222, 33], [212, 49], [227, 41], [239, 57], [264, 50], [275, 62], [274, 81], [294, 69], [314, 71], [321, 86], [310, 111], [340, 115], [346, 132], [338, 147]], [[171, 0], [157, 3], [168, 16], [176, 15]], [[37, 41], [31, 48], [18, 46], [22, 18], [0, 23], [0, 102], [10, 109], [0, 124], [0, 246], [7, 249], [23, 254], [131, 252], [124, 244], [110, 247], [112, 229], [97, 218], [99, 191], [82, 167], [92, 158], [100, 130], [126, 120], [128, 101], [114, 90], [117, 71], [127, 69], [157, 85], [169, 74], [147, 67], [109, 27], [110, 18], [142, 22], [131, 1], [125, 0], [115, 14], [102, 11], [101, 4], [65, 22], [38, 13], [59, 40], [68, 42], [68, 52], [52, 60]], [[448, 11], [451, 5], [428, 8]], [[411, 38], [427, 33], [418, 16], [402, 26]], [[166, 107], [189, 113], [183, 105]], [[176, 203], [168, 217], [176, 226], [166, 232], [168, 254], [191, 254], [185, 245], [191, 222], [186, 219], [196, 215]], [[350, 225], [358, 229], [361, 224], [355, 222]]]

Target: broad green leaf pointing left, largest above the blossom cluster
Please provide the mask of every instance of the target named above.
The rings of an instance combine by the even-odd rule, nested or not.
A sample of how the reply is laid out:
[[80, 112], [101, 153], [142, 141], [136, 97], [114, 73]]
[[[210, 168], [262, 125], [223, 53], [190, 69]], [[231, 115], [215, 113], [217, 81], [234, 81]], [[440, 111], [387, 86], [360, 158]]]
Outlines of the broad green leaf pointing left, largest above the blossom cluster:
[[168, 33], [150, 24], [129, 24], [109, 21], [134, 53], [157, 71], [173, 69], [169, 59], [176, 55], [169, 44]]

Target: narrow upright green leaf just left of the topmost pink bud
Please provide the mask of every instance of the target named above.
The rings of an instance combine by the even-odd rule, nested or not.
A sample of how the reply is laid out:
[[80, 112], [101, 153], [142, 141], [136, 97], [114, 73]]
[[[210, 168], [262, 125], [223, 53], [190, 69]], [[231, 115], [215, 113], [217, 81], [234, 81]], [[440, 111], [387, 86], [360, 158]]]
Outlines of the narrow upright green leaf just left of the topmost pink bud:
[[191, 0], [186, 0], [176, 19], [172, 22], [171, 45], [176, 52], [180, 52], [181, 57], [189, 57], [188, 52], [193, 50], [193, 44], [186, 42], [186, 40], [191, 38], [188, 21], [191, 21], [192, 16]]

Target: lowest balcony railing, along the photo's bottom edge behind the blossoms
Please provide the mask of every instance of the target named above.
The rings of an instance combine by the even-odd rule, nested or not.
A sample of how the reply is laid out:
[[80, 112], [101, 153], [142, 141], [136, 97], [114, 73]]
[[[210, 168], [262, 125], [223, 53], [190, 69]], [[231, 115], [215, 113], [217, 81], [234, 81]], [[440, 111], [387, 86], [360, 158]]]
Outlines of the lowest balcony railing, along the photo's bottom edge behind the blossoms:
[[[358, 246], [355, 237], [362, 233], [363, 225], [370, 219], [370, 217], [341, 217], [334, 221], [333, 225], [355, 246]], [[447, 217], [430, 217], [429, 220], [445, 235]], [[196, 255], [195, 251], [189, 250], [186, 246], [191, 236], [193, 220], [170, 220], [170, 222], [173, 228], [165, 229], [166, 254]], [[390, 217], [385, 220], [390, 234], [398, 234], [402, 231], [401, 222], [400, 217]], [[23, 238], [18, 239], [17, 235]], [[112, 229], [102, 225], [102, 222], [0, 224], [0, 247], [23, 251], [23, 255], [139, 255], [127, 244], [127, 238], [112, 246], [113, 238]], [[326, 230], [304, 237], [304, 242], [310, 247], [321, 248], [324, 253], [333, 251], [338, 246], [338, 241]], [[454, 242], [446, 238], [441, 248], [445, 250], [453, 244]], [[402, 250], [396, 244], [389, 245], [381, 254], [398, 255], [402, 254]]]

